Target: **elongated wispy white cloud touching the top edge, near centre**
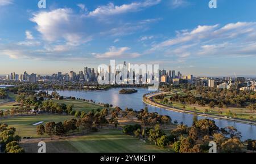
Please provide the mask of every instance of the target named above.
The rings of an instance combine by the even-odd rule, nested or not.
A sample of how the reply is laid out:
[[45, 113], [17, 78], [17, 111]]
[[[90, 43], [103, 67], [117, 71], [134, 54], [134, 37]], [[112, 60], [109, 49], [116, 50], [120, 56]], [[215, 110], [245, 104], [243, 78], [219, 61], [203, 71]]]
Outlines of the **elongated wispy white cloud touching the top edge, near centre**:
[[143, 2], [133, 2], [121, 6], [115, 6], [113, 3], [109, 3], [106, 6], [99, 6], [94, 11], [89, 12], [88, 16], [109, 16], [116, 14], [123, 14], [127, 12], [134, 12], [142, 10], [143, 8], [158, 5], [161, 0], [146, 0]]

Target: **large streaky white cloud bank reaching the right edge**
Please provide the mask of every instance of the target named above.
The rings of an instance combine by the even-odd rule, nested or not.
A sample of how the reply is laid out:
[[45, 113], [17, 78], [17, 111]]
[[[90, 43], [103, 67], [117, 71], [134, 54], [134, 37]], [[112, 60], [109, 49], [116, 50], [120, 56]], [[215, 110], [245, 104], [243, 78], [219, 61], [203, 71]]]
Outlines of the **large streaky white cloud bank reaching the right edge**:
[[237, 22], [224, 26], [199, 25], [189, 31], [177, 31], [175, 37], [152, 45], [147, 54], [162, 53], [177, 59], [202, 56], [248, 57], [256, 56], [256, 22]]

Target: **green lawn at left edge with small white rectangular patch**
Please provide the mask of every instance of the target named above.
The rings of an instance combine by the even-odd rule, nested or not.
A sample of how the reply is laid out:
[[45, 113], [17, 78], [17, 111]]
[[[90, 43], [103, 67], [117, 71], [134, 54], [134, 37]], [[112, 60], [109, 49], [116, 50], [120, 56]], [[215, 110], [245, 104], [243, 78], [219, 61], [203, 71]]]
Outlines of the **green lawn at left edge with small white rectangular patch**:
[[[38, 122], [44, 122], [43, 125], [46, 124], [46, 122], [63, 122], [67, 119], [74, 118], [71, 115], [36, 115], [36, 116], [15, 116], [10, 117], [7, 119], [0, 119], [0, 123], [8, 124], [9, 127], [16, 128], [16, 135], [19, 135], [21, 137], [40, 137], [36, 133], [36, 126], [33, 126], [32, 124], [38, 123]], [[48, 137], [46, 135], [46, 137]]]

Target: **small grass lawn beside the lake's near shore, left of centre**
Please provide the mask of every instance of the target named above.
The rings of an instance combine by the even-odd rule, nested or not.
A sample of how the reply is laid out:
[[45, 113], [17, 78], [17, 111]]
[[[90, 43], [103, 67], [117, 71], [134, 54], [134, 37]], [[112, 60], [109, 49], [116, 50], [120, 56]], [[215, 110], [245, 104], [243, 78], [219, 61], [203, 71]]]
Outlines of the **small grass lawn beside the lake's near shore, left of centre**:
[[88, 103], [82, 100], [53, 100], [53, 101], [57, 103], [65, 103], [67, 105], [73, 103], [74, 110], [85, 111], [86, 113], [88, 113], [89, 111], [92, 111], [93, 109], [96, 111], [98, 108], [100, 109], [104, 108], [100, 105]]

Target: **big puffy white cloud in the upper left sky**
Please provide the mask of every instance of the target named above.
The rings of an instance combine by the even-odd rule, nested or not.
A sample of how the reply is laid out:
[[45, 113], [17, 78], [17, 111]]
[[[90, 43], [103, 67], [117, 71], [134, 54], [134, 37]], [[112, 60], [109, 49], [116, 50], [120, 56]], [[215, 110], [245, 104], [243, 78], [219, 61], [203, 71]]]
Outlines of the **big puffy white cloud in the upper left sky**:
[[70, 8], [39, 12], [30, 20], [37, 24], [36, 29], [42, 34], [44, 40], [63, 39], [73, 45], [84, 44], [90, 40], [81, 29], [84, 21], [80, 15], [73, 14]]

